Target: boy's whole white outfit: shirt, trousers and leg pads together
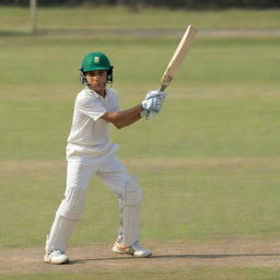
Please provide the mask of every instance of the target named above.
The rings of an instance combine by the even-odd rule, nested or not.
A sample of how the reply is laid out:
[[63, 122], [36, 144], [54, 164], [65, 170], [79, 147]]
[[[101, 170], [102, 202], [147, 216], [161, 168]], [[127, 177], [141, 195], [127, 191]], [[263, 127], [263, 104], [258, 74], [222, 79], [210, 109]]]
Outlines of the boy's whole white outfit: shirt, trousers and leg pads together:
[[[119, 241], [130, 246], [138, 240], [141, 190], [140, 187], [137, 191], [132, 189], [133, 178], [115, 156], [114, 151], [117, 145], [108, 138], [108, 122], [101, 118], [106, 112], [117, 110], [119, 110], [118, 97], [116, 92], [109, 88], [106, 88], [105, 97], [90, 89], [82, 90], [77, 96], [67, 145], [67, 187], [65, 199], [57, 210], [46, 241], [48, 253], [57, 249], [66, 252], [74, 224], [82, 214], [86, 189], [94, 175], [100, 177], [119, 198], [121, 219]], [[136, 195], [139, 196], [139, 201], [132, 199]], [[127, 206], [125, 202], [128, 198], [131, 201]], [[122, 210], [124, 218], [128, 220], [124, 224]], [[135, 217], [133, 223], [129, 221], [131, 217]], [[131, 230], [129, 226], [135, 229]], [[126, 242], [129, 244], [125, 244]]]

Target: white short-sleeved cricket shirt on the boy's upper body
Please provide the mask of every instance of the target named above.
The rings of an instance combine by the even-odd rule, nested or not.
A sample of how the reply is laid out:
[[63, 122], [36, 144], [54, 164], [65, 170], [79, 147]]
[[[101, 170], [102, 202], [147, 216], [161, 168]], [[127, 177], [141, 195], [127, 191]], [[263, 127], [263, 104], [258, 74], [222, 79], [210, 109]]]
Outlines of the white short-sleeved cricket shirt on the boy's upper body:
[[[106, 88], [102, 97], [90, 89], [83, 89], [74, 103], [73, 120], [68, 137], [67, 155], [101, 155], [114, 148], [108, 137], [108, 122], [101, 118], [106, 112], [117, 112], [117, 93]], [[115, 149], [114, 149], [115, 150]]]

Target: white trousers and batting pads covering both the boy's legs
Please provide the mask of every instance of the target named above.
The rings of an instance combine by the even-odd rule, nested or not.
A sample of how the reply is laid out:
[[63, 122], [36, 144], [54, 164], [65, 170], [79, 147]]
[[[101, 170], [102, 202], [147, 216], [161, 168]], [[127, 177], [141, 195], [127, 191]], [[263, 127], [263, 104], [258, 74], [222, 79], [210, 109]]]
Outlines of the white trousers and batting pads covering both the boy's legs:
[[[69, 158], [65, 199], [56, 212], [50, 233], [47, 236], [46, 252], [50, 253], [57, 249], [66, 252], [74, 225], [81, 218], [86, 189], [94, 175], [100, 177], [119, 198], [121, 219], [118, 241], [122, 242], [124, 246], [130, 246], [137, 242], [141, 190], [139, 185], [131, 184], [135, 179], [121, 162], [114, 153], [98, 158], [80, 158], [79, 160]], [[122, 235], [126, 235], [126, 241], [122, 240]]]

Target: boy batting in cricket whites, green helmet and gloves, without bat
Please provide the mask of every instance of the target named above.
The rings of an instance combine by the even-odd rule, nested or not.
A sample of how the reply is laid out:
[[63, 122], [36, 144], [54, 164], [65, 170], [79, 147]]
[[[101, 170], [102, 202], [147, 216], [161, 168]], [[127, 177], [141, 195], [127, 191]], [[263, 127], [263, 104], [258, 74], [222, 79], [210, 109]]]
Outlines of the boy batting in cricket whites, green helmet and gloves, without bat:
[[102, 52], [84, 57], [80, 75], [84, 89], [77, 96], [68, 138], [65, 199], [47, 236], [44, 260], [57, 265], [69, 261], [67, 243], [81, 218], [93, 175], [110, 187], [119, 199], [120, 228], [113, 250], [133, 257], [149, 257], [151, 250], [139, 245], [141, 189], [138, 180], [116, 158], [117, 145], [108, 138], [108, 124], [120, 129], [140, 118], [150, 119], [160, 113], [165, 93], [150, 91], [141, 104], [119, 110], [116, 92], [106, 86], [113, 82], [113, 66]]

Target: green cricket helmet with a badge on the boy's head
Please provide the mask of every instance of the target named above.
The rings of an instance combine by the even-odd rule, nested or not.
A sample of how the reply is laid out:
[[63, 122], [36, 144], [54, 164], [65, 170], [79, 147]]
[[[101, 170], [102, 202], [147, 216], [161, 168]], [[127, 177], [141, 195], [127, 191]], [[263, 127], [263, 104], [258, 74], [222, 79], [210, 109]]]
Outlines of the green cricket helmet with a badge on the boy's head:
[[[85, 72], [94, 70], [106, 70], [107, 71], [107, 81], [113, 82], [113, 66], [109, 62], [109, 59], [103, 52], [90, 52], [88, 54], [80, 68], [82, 75], [84, 77]], [[82, 80], [84, 82], [84, 79]]]

